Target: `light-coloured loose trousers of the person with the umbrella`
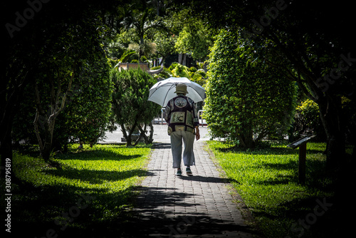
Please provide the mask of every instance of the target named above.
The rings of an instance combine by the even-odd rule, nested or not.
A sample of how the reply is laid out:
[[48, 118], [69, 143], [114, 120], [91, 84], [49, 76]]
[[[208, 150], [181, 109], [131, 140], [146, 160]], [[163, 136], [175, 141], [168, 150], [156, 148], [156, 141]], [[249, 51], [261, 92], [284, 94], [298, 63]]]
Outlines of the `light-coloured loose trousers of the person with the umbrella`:
[[173, 167], [181, 167], [182, 142], [184, 143], [183, 162], [185, 166], [195, 165], [193, 152], [194, 133], [186, 130], [177, 130], [171, 134], [171, 147], [173, 157]]

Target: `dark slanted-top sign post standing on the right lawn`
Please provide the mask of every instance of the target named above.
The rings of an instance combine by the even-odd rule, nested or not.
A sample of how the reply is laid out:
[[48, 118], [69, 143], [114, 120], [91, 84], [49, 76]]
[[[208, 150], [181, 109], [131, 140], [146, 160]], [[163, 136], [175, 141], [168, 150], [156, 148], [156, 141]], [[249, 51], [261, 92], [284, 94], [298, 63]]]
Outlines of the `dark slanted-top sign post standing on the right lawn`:
[[307, 143], [309, 140], [315, 138], [316, 135], [307, 135], [299, 140], [288, 145], [290, 148], [299, 148], [299, 166], [298, 166], [298, 177], [301, 184], [305, 183], [305, 160], [307, 157]]

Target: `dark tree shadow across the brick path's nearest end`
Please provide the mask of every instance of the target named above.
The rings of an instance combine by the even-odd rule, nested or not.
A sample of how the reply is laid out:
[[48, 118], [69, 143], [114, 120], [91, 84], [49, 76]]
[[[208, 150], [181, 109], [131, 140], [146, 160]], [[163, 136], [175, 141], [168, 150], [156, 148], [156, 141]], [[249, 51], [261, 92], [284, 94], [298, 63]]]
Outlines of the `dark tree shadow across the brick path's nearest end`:
[[253, 237], [253, 234], [259, 237], [258, 232], [246, 224], [235, 224], [217, 214], [211, 216], [214, 206], [210, 211], [197, 209], [205, 205], [187, 202], [187, 198], [194, 196], [192, 193], [165, 187], [137, 189], [147, 195], [138, 198], [137, 209], [132, 212], [133, 219], [127, 222], [123, 237], [228, 237], [236, 231], [241, 232], [241, 236], [234, 237]]

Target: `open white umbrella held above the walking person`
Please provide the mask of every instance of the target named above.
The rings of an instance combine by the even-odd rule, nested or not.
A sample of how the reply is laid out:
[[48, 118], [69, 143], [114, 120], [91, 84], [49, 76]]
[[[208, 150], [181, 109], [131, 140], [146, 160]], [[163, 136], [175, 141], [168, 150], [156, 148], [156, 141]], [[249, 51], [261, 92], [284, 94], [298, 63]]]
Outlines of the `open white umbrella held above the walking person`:
[[176, 85], [184, 83], [187, 86], [187, 97], [192, 98], [195, 103], [206, 98], [205, 89], [198, 83], [190, 81], [188, 78], [167, 78], [164, 81], [159, 81], [150, 89], [148, 100], [165, 107], [169, 100], [176, 97]]

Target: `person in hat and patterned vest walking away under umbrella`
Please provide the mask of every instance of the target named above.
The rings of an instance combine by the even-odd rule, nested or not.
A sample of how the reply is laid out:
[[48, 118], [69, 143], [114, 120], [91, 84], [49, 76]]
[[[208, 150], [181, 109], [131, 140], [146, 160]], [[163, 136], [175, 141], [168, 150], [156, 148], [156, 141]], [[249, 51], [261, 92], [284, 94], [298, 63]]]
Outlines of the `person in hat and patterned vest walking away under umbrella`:
[[182, 142], [184, 143], [183, 162], [187, 167], [187, 175], [192, 176], [190, 166], [195, 165], [193, 152], [194, 135], [200, 139], [199, 120], [194, 100], [187, 97], [187, 86], [178, 83], [177, 96], [167, 103], [164, 119], [168, 124], [168, 135], [171, 138], [173, 168], [177, 169], [177, 176], [182, 176]]

